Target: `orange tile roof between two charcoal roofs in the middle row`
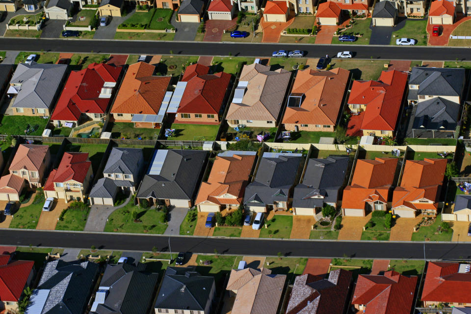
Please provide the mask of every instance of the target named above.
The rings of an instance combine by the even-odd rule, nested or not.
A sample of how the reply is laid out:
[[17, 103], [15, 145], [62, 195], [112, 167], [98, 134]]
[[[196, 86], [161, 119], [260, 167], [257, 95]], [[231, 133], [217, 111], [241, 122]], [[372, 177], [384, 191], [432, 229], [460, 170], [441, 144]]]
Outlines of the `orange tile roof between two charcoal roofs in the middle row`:
[[[201, 183], [195, 204], [207, 201], [217, 205], [240, 204], [244, 197], [245, 186], [249, 183], [254, 161], [255, 155], [217, 156], [208, 182]], [[223, 197], [225, 194], [230, 194], [235, 198]]]

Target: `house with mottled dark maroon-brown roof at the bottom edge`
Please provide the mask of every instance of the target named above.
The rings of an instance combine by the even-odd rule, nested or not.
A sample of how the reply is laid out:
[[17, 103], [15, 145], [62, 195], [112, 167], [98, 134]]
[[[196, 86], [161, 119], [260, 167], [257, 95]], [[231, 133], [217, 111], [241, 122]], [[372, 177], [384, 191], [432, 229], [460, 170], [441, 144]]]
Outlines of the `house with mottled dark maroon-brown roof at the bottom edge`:
[[328, 278], [312, 274], [297, 276], [286, 314], [344, 314], [352, 273], [333, 269]]

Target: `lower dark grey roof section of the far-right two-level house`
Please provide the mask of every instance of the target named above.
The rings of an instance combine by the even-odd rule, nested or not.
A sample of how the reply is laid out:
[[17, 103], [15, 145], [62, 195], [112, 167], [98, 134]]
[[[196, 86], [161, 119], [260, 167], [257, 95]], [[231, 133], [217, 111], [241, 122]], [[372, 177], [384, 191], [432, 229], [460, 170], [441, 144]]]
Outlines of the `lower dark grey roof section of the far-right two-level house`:
[[455, 130], [460, 104], [435, 97], [417, 105], [413, 129]]

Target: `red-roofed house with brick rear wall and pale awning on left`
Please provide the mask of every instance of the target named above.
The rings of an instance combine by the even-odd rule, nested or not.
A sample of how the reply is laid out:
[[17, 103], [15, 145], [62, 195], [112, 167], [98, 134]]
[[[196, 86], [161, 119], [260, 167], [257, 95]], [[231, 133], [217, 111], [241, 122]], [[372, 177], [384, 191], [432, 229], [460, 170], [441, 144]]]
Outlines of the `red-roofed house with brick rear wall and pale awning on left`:
[[[186, 67], [170, 101], [178, 102], [174, 123], [219, 124], [226, 96], [231, 92], [230, 82], [230, 74], [209, 74], [206, 65], [195, 63]], [[177, 92], [179, 87], [183, 88], [183, 95]]]

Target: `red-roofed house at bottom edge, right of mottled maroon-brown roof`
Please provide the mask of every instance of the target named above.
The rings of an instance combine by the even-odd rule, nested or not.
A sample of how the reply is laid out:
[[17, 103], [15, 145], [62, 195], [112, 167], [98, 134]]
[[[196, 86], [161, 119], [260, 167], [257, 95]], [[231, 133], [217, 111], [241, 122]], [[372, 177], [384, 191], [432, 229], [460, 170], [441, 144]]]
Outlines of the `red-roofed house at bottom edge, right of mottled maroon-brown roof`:
[[417, 276], [404, 276], [394, 270], [384, 275], [359, 275], [352, 304], [364, 314], [410, 314], [416, 285]]

